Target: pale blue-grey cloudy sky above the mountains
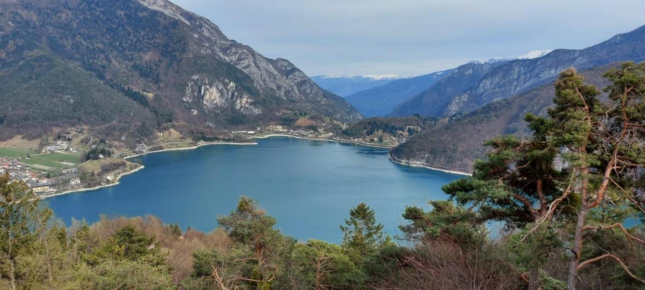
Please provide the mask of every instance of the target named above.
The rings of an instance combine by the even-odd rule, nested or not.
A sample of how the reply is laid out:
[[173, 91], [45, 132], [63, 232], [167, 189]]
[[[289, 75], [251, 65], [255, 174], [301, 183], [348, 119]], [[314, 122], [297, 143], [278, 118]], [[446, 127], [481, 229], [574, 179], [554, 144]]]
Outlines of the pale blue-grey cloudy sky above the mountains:
[[581, 49], [645, 24], [645, 0], [171, 0], [307, 75], [413, 77]]

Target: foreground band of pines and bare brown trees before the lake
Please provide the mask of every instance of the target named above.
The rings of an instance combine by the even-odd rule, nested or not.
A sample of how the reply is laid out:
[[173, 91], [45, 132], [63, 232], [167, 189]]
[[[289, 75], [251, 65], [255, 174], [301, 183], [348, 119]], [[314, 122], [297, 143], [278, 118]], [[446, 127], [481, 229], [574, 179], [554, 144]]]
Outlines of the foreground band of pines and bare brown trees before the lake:
[[210, 233], [155, 217], [65, 226], [5, 174], [0, 288], [644, 289], [645, 64], [604, 77], [600, 98], [563, 71], [529, 137], [486, 141], [472, 176], [402, 209], [394, 236], [361, 203], [339, 244], [295, 240], [248, 197]]

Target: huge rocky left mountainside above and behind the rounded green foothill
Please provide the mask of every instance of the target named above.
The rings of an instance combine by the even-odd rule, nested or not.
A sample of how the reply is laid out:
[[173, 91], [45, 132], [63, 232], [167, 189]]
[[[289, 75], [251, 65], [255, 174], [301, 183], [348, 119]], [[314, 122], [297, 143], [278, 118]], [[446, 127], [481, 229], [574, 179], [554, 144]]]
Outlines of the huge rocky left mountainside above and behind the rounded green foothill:
[[[134, 94], [157, 126], [246, 126], [277, 122], [292, 111], [362, 118], [288, 60], [263, 57], [165, 0], [0, 1], [0, 70], [34, 51], [91, 72], [93, 82], [122, 96], [146, 96]], [[29, 111], [19, 99], [12, 104]], [[83, 112], [76, 114], [84, 120]]]

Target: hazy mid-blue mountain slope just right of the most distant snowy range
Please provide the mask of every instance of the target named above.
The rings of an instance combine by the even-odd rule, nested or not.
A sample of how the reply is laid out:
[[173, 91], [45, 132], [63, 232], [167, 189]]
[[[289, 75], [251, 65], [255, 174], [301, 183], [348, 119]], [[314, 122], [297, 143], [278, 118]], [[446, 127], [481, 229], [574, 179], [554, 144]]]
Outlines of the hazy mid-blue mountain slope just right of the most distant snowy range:
[[403, 100], [428, 89], [437, 80], [441, 80], [451, 72], [452, 69], [448, 69], [419, 77], [393, 80], [388, 84], [346, 96], [345, 99], [364, 116], [386, 116], [393, 107]]

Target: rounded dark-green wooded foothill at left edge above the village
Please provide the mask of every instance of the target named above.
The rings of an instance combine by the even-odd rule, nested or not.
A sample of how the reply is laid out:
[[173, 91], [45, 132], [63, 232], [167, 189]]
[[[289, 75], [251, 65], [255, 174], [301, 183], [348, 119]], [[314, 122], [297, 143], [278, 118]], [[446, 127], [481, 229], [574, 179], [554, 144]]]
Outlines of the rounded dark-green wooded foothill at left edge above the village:
[[0, 140], [39, 138], [52, 126], [102, 125], [103, 136], [153, 134], [155, 116], [94, 75], [32, 51], [0, 71]]

